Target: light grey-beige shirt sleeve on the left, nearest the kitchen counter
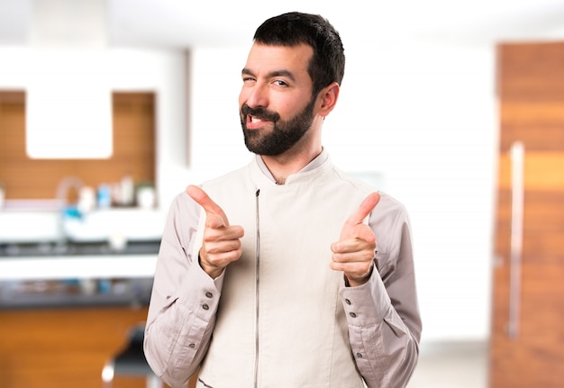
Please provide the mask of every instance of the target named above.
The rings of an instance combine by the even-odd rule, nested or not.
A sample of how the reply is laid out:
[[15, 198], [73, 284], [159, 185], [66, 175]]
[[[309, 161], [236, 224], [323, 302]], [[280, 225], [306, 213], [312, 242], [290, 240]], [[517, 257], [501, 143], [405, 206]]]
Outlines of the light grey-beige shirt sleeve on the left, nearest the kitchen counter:
[[145, 328], [147, 361], [172, 387], [186, 384], [205, 356], [223, 284], [223, 275], [212, 279], [193, 257], [199, 218], [197, 203], [179, 194], [163, 231]]

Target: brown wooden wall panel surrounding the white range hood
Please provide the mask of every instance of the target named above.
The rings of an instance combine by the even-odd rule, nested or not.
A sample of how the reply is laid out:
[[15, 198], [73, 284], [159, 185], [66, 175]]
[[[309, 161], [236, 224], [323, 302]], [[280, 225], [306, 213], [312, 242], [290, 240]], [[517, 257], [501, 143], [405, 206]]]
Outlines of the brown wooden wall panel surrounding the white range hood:
[[[65, 176], [85, 185], [113, 184], [125, 175], [155, 181], [155, 101], [152, 93], [114, 93], [114, 155], [109, 159], [30, 159], [25, 154], [25, 105], [20, 92], [0, 93], [0, 181], [8, 199], [54, 198]], [[72, 199], [72, 198], [70, 198]]]

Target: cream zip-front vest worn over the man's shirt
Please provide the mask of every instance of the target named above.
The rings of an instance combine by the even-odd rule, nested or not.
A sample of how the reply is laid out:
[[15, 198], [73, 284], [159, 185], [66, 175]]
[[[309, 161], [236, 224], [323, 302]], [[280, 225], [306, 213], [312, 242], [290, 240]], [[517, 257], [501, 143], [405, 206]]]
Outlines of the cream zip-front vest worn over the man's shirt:
[[339, 296], [343, 274], [329, 265], [331, 244], [368, 186], [327, 160], [286, 185], [253, 161], [203, 188], [245, 235], [242, 257], [226, 268], [197, 386], [363, 387]]

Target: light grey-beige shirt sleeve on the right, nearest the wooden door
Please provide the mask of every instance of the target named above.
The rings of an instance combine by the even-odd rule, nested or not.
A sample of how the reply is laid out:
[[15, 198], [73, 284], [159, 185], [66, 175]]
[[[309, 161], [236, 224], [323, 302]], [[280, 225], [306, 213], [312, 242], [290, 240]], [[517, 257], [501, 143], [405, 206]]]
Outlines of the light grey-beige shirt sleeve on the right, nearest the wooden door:
[[352, 355], [368, 388], [404, 388], [417, 364], [422, 330], [411, 226], [401, 204], [382, 199], [369, 219], [378, 242], [377, 270], [366, 284], [343, 287], [341, 299]]

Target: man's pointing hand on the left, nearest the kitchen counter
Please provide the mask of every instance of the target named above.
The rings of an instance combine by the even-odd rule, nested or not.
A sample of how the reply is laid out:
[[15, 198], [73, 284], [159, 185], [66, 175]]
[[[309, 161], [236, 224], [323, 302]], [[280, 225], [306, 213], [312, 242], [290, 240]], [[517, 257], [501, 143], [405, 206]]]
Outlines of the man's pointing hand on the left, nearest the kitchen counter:
[[186, 193], [205, 210], [200, 266], [207, 275], [216, 278], [222, 275], [225, 266], [241, 257], [241, 238], [244, 230], [239, 225], [230, 226], [223, 209], [200, 187], [189, 185], [186, 187]]

